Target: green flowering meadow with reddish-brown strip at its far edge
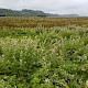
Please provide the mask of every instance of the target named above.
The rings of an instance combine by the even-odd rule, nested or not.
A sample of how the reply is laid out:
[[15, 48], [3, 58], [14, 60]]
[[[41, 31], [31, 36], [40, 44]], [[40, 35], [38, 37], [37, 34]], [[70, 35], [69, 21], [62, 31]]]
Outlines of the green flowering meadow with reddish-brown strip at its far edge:
[[86, 88], [88, 18], [0, 18], [0, 88]]

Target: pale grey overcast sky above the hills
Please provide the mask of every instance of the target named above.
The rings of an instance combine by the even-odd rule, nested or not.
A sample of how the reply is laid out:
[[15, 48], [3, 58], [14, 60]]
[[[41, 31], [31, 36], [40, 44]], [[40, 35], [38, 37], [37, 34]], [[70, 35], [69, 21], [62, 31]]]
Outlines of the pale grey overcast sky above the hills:
[[42, 10], [48, 13], [88, 15], [88, 0], [0, 0], [0, 8]]

